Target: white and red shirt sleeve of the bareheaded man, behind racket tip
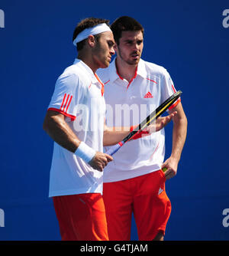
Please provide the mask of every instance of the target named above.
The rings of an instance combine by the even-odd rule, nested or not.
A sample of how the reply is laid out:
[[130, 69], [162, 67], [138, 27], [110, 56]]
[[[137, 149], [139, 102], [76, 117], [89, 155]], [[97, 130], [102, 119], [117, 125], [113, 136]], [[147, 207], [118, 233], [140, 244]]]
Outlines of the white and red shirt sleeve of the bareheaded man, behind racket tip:
[[[163, 77], [161, 79], [161, 103], [163, 103], [165, 100], [167, 100], [170, 96], [176, 93], [176, 88], [174, 87], [173, 80], [170, 77], [168, 71], [164, 69]], [[169, 110], [172, 110], [174, 107], [177, 106], [177, 104], [180, 102], [180, 97], [178, 100], [176, 100], [175, 103], [173, 103], [172, 106], [169, 107]]]

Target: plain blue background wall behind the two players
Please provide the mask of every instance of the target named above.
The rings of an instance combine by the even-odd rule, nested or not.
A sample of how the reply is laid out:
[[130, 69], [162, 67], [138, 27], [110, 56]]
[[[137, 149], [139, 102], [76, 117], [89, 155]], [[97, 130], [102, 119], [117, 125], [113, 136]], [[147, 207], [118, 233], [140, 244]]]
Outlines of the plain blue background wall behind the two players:
[[[0, 28], [0, 240], [60, 240], [48, 199], [53, 142], [42, 130], [53, 87], [76, 50], [79, 19], [130, 15], [144, 25], [143, 58], [171, 74], [189, 120], [178, 174], [166, 182], [173, 211], [166, 240], [228, 240], [229, 28], [218, 1], [6, 1]], [[229, 21], [227, 21], [229, 23]], [[166, 127], [166, 156], [172, 124]], [[137, 239], [133, 223], [132, 239]]]

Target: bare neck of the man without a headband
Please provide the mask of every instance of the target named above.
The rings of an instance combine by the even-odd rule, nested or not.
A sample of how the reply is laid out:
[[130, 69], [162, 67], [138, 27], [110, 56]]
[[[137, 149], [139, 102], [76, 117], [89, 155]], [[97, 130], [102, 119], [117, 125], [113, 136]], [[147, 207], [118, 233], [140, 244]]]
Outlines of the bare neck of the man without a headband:
[[130, 82], [136, 74], [137, 64], [127, 64], [125, 61], [118, 57], [116, 58], [115, 64], [118, 75]]

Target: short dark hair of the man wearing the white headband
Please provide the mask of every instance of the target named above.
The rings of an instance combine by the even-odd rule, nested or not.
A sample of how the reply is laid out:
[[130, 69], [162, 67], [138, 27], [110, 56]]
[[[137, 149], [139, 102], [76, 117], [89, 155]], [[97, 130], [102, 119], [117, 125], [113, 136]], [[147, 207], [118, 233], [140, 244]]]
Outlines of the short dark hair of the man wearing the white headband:
[[[73, 32], [73, 41], [76, 39], [77, 35], [85, 30], [85, 28], [92, 28], [98, 24], [105, 23], [106, 25], [109, 25], [109, 20], [104, 19], [104, 18], [85, 18], [82, 21], [79, 21], [79, 23], [76, 25], [76, 28]], [[95, 38], [98, 39], [98, 36], [95, 35]], [[83, 46], [85, 45], [85, 40], [80, 41], [79, 43], [76, 44], [77, 51], [82, 50]]]

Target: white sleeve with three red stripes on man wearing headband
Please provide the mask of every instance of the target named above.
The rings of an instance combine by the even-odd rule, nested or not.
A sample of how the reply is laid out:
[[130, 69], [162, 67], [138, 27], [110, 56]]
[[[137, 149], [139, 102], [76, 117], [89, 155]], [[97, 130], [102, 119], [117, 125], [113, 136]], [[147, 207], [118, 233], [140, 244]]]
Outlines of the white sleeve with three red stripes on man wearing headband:
[[53, 97], [48, 110], [54, 110], [69, 117], [72, 121], [77, 116], [77, 105], [82, 100], [83, 87], [76, 74], [61, 75], [56, 80]]

